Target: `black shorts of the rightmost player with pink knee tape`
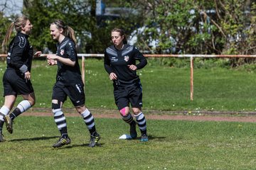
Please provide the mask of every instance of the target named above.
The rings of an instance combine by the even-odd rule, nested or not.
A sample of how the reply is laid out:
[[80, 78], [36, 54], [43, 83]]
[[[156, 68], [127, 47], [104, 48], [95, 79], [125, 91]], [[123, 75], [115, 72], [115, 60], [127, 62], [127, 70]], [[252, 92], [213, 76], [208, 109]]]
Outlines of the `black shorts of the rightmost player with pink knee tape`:
[[131, 104], [132, 108], [142, 107], [142, 84], [138, 82], [132, 86], [115, 86], [114, 101], [118, 110]]

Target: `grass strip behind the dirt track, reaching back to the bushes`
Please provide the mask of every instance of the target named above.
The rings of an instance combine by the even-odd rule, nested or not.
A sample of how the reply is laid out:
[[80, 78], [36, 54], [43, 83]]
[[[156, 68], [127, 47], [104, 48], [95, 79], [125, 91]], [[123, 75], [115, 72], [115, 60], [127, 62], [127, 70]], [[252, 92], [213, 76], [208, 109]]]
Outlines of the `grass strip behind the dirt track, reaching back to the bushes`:
[[[144, 110], [169, 111], [255, 111], [256, 75], [247, 69], [210, 67], [194, 69], [194, 96], [190, 100], [190, 69], [149, 64], [138, 74], [142, 80]], [[0, 79], [6, 64], [0, 62]], [[51, 91], [56, 67], [45, 60], [34, 60], [32, 82], [35, 108], [51, 107]], [[0, 89], [3, 89], [0, 84]], [[85, 93], [88, 108], [116, 109], [112, 81], [103, 61], [85, 60]], [[4, 98], [0, 98], [0, 106]], [[65, 108], [73, 108], [68, 100]]]

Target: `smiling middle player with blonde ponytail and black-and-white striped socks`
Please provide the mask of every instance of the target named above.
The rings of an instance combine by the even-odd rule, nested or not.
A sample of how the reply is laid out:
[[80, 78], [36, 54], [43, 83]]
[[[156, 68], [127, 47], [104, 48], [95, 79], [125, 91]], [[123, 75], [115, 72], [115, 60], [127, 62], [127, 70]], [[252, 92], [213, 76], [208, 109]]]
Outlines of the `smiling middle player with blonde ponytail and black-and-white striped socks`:
[[87, 125], [90, 131], [89, 147], [95, 147], [100, 140], [100, 135], [95, 128], [95, 121], [88, 109], [85, 107], [84, 84], [82, 82], [78, 55], [75, 50], [75, 33], [72, 28], [66, 26], [63, 21], [56, 20], [50, 24], [50, 35], [53, 40], [58, 41], [55, 55], [47, 55], [49, 65], [58, 65], [56, 82], [53, 86], [52, 108], [54, 120], [60, 130], [61, 137], [53, 147], [62, 147], [70, 144], [68, 129], [62, 106], [67, 96], [72, 101], [76, 110]]

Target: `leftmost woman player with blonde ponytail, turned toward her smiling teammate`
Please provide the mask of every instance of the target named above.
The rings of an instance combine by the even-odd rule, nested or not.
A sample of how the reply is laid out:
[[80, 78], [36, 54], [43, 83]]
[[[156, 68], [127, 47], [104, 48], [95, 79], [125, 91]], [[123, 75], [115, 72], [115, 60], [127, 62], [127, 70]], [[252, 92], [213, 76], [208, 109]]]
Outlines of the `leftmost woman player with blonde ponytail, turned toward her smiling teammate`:
[[[26, 16], [16, 18], [16, 21], [11, 23], [7, 30], [2, 46], [11, 37], [12, 31], [16, 30], [17, 34], [9, 44], [7, 56], [7, 68], [4, 72], [4, 106], [0, 108], [0, 142], [4, 141], [2, 129], [4, 121], [6, 122], [7, 130], [13, 132], [13, 120], [21, 113], [31, 108], [36, 97], [31, 84], [31, 63], [33, 58], [33, 48], [28, 42], [28, 35], [31, 34], [33, 28], [31, 22]], [[40, 55], [41, 52], [36, 52], [35, 55]], [[9, 111], [14, 107], [17, 95], [23, 97], [23, 101], [18, 103], [18, 106], [9, 114]], [[9, 115], [8, 115], [9, 114]]]

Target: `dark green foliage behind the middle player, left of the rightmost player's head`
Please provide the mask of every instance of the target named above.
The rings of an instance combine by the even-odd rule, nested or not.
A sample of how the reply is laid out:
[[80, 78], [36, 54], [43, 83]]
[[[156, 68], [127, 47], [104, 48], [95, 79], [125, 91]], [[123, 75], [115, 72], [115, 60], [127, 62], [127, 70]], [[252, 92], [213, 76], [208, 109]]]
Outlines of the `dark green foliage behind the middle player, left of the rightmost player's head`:
[[56, 18], [62, 19], [75, 30], [80, 53], [104, 52], [110, 45], [110, 30], [114, 26], [125, 27], [134, 24], [131, 21], [125, 22], [129, 19], [121, 16], [117, 20], [100, 23], [99, 26], [95, 16], [96, 4], [93, 0], [33, 0], [27, 4], [23, 13], [29, 16], [34, 25], [31, 42], [38, 50], [49, 48], [55, 51], [55, 42], [50, 38], [49, 26]]

